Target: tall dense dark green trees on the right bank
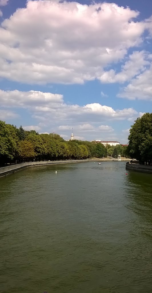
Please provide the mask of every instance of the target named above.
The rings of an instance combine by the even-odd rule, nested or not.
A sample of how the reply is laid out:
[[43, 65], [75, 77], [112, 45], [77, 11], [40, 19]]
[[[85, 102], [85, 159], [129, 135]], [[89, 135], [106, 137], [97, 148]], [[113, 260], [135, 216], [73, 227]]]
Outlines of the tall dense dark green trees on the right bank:
[[128, 154], [140, 164], [152, 163], [152, 113], [145, 113], [131, 126]]

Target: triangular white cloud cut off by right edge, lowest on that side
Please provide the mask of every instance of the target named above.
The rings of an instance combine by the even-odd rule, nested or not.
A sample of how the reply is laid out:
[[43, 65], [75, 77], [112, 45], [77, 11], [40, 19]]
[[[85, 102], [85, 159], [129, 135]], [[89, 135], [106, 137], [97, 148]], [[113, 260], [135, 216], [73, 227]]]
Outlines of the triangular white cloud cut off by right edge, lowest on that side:
[[117, 95], [120, 98], [127, 98], [129, 100], [152, 100], [152, 63], [150, 68], [139, 74], [136, 78], [121, 89]]

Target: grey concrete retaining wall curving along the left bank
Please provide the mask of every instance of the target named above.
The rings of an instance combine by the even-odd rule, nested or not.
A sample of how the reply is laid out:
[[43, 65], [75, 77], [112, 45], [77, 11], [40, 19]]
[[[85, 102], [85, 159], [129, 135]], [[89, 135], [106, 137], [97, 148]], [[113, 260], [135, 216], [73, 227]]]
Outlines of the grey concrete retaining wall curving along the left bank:
[[6, 175], [12, 174], [14, 172], [20, 171], [27, 167], [34, 167], [34, 166], [44, 166], [49, 164], [65, 164], [65, 163], [77, 163], [77, 162], [84, 162], [84, 161], [90, 161], [90, 159], [86, 160], [65, 160], [65, 161], [40, 161], [40, 162], [26, 162], [26, 163], [20, 163], [16, 165], [11, 165], [7, 167], [0, 168], [0, 177], [4, 177]]

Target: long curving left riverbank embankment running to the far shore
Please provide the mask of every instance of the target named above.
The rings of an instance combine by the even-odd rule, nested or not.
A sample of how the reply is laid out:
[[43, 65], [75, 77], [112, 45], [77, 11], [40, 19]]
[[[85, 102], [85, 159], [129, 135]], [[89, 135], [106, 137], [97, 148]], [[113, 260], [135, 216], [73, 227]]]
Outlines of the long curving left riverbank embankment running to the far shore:
[[[110, 159], [110, 158], [92, 158], [85, 160], [61, 160], [61, 161], [40, 161], [40, 162], [25, 162], [16, 165], [10, 165], [6, 167], [0, 168], [0, 178], [18, 172], [22, 169], [34, 167], [34, 166], [44, 166], [49, 164], [67, 164], [67, 163], [79, 163], [79, 162], [89, 162], [89, 161], [118, 161], [118, 159]], [[128, 159], [122, 159], [122, 161], [128, 161]]]

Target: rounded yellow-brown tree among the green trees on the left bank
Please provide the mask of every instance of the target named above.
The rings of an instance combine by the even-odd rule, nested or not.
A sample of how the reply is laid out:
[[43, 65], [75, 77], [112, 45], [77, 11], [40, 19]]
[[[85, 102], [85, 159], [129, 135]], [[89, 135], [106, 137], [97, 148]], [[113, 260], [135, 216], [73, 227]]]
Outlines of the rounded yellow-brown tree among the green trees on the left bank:
[[19, 156], [24, 160], [34, 158], [36, 156], [36, 153], [34, 152], [34, 146], [30, 141], [20, 141]]

